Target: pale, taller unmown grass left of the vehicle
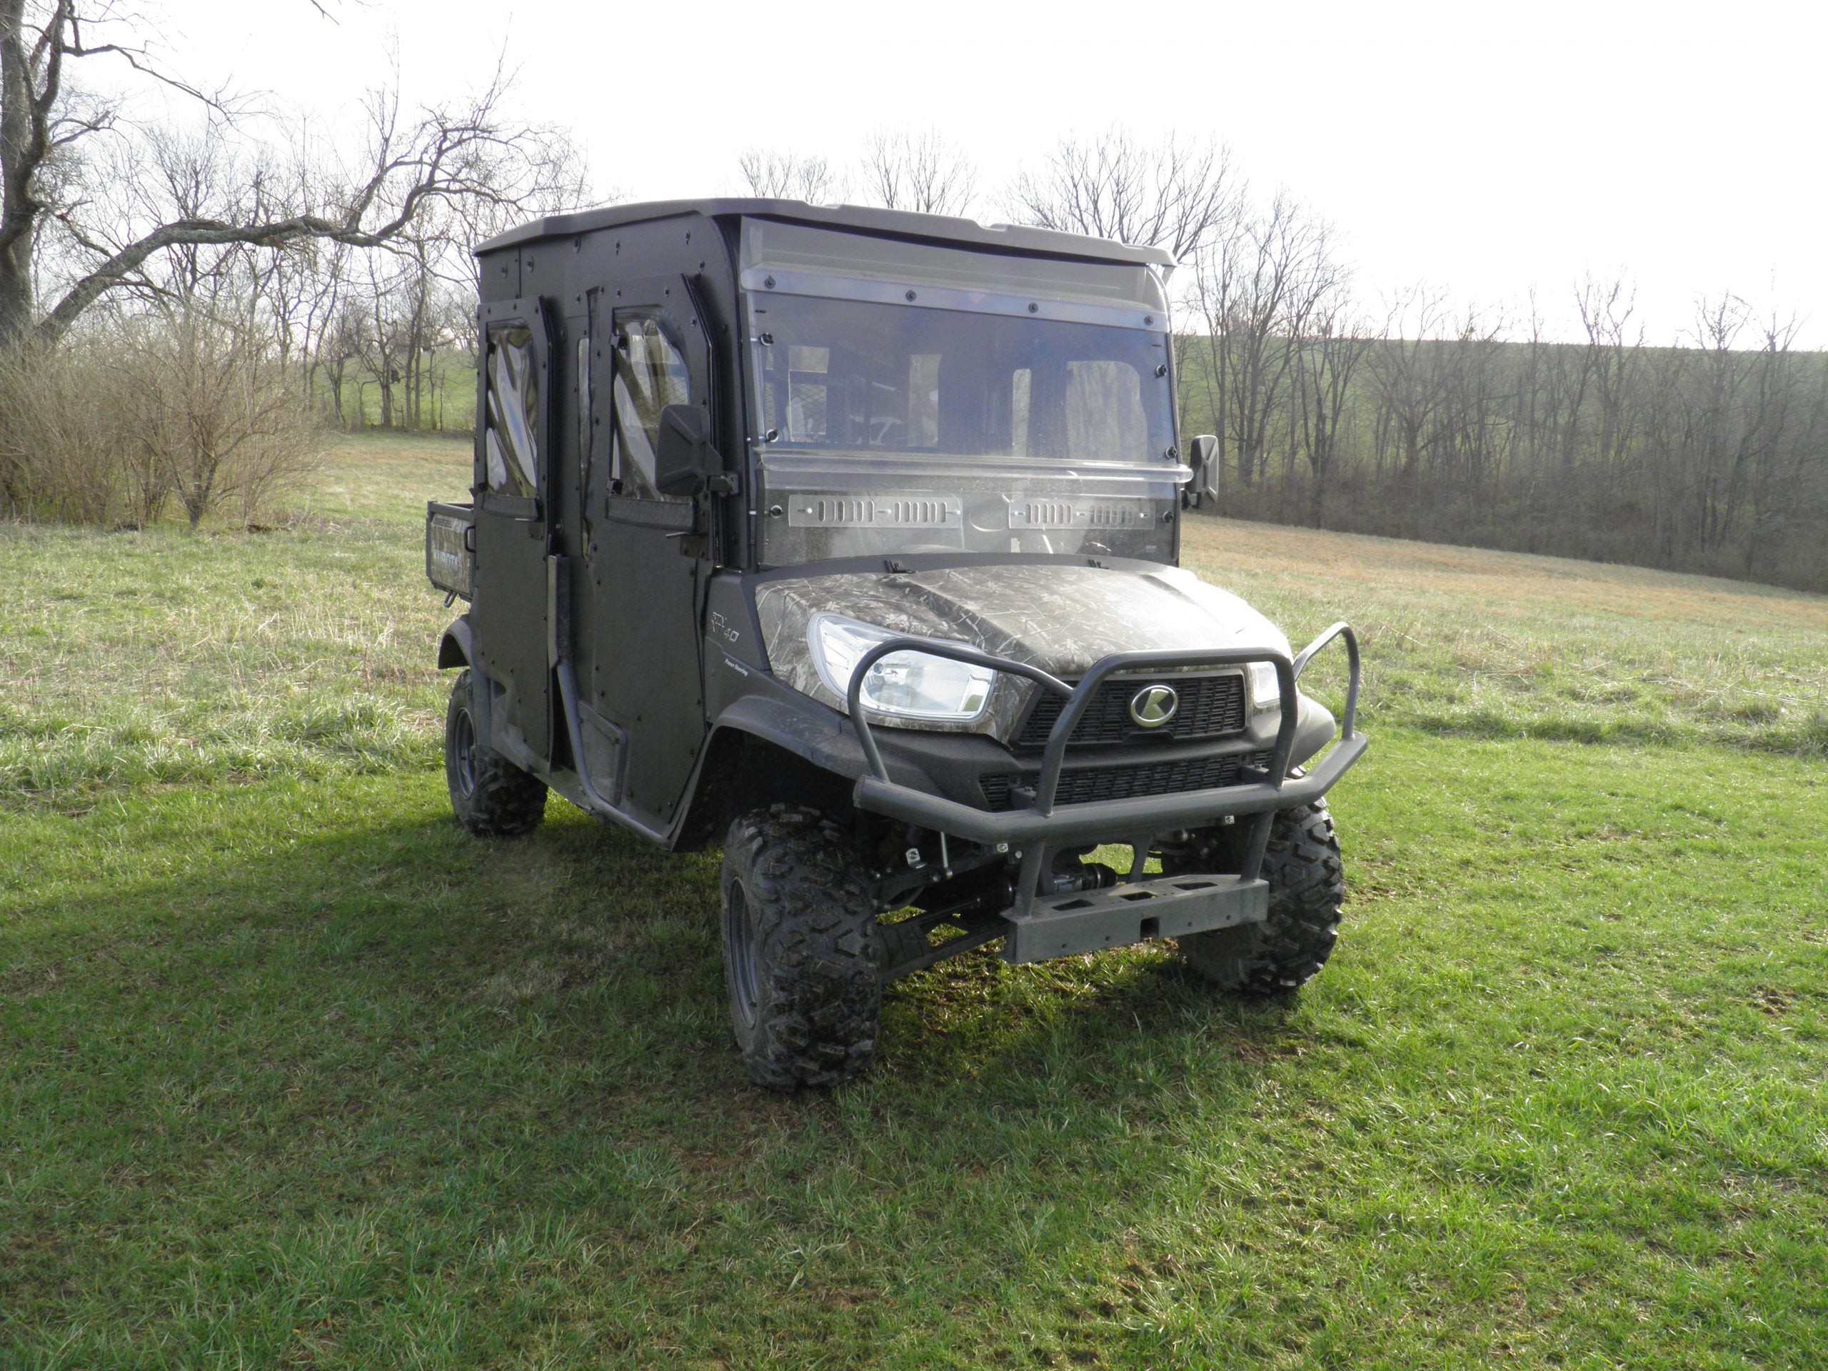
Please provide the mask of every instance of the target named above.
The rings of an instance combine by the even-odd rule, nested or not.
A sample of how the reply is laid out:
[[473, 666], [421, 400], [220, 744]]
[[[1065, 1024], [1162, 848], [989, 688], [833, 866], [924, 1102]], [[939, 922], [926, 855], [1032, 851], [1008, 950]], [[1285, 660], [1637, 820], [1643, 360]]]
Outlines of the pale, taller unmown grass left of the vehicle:
[[0, 525], [0, 808], [141, 784], [426, 768], [450, 622], [424, 579], [430, 495], [468, 442], [344, 439], [265, 534]]

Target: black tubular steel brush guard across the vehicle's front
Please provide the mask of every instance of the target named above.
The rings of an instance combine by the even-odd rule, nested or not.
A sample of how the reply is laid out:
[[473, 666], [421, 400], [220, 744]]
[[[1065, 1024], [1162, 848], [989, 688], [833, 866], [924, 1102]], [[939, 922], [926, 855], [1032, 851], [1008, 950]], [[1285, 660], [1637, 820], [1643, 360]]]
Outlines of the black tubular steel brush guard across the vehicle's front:
[[[1345, 642], [1351, 678], [1345, 687], [1345, 715], [1340, 724], [1340, 737], [1333, 749], [1305, 775], [1289, 777], [1289, 760], [1294, 749], [1298, 724], [1296, 682], [1309, 660], [1334, 640]], [[1042, 751], [1040, 779], [1035, 786], [1031, 808], [993, 812], [960, 804], [958, 801], [932, 795], [888, 779], [881, 749], [868, 718], [865, 718], [861, 691], [863, 678], [872, 665], [890, 653], [921, 651], [934, 656], [967, 662], [971, 665], [1005, 671], [1036, 682], [1042, 689], [1068, 696], [1047, 746]], [[1068, 739], [1079, 726], [1080, 717], [1091, 704], [1099, 686], [1117, 673], [1150, 671], [1172, 667], [1247, 667], [1254, 662], [1269, 662], [1276, 667], [1276, 682], [1281, 689], [1285, 707], [1276, 729], [1276, 746], [1270, 753], [1269, 777], [1261, 782], [1225, 786], [1219, 790], [1192, 790], [1166, 795], [1139, 795], [1133, 799], [1095, 801], [1089, 804], [1055, 806], [1055, 793], [1060, 784], [1060, 771], [1066, 764]], [[857, 742], [868, 760], [868, 773], [857, 779], [854, 801], [857, 808], [883, 813], [892, 819], [932, 828], [941, 834], [963, 837], [972, 843], [1007, 843], [1011, 846], [1029, 846], [1035, 843], [1069, 845], [1095, 841], [1126, 841], [1135, 834], [1164, 834], [1177, 828], [1203, 828], [1225, 817], [1261, 815], [1287, 810], [1296, 804], [1320, 799], [1333, 784], [1356, 762], [1366, 749], [1366, 737], [1358, 733], [1358, 638], [1347, 623], [1334, 623], [1314, 642], [1292, 658], [1280, 653], [1259, 651], [1210, 651], [1210, 653], [1117, 653], [1106, 656], [1077, 687], [1040, 671], [1038, 667], [1007, 658], [980, 653], [963, 643], [930, 638], [892, 638], [872, 647], [857, 662], [850, 676], [848, 706], [850, 722], [857, 731]], [[1254, 877], [1254, 870], [1250, 872]]]

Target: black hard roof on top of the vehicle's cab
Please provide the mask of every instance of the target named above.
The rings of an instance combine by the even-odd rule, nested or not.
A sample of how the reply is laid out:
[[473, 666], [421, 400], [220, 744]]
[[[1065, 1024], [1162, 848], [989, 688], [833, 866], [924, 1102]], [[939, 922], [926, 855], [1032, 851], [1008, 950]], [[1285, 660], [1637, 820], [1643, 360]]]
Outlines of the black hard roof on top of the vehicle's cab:
[[598, 228], [620, 228], [651, 219], [671, 219], [680, 214], [706, 218], [753, 216], [815, 223], [826, 228], [854, 228], [866, 234], [910, 238], [929, 243], [960, 243], [1002, 252], [1047, 254], [1091, 261], [1122, 261], [1142, 267], [1174, 267], [1174, 254], [1159, 247], [1132, 247], [1110, 238], [1062, 234], [1053, 228], [1024, 228], [1009, 223], [982, 225], [976, 219], [954, 219], [945, 214], [914, 214], [910, 210], [879, 210], [865, 205], [808, 205], [799, 199], [653, 199], [636, 205], [609, 205], [578, 214], [550, 214], [543, 219], [510, 228], [477, 245], [475, 256], [506, 247], [537, 243], [547, 238], [574, 238]]

